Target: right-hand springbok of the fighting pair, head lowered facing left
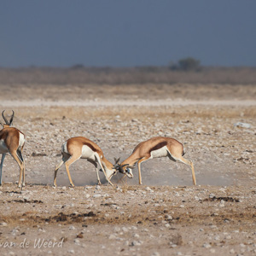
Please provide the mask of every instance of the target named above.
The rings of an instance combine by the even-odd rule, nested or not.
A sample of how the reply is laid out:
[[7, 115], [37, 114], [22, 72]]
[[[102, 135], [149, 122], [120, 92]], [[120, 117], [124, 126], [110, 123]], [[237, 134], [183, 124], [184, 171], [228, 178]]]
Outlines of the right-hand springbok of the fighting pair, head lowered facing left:
[[115, 168], [126, 175], [130, 173], [130, 176], [127, 176], [132, 177], [131, 166], [137, 163], [139, 184], [141, 185], [143, 184], [141, 163], [149, 159], [168, 156], [170, 160], [175, 162], [178, 160], [191, 167], [193, 183], [196, 185], [193, 163], [190, 160], [184, 159], [183, 155], [183, 144], [179, 143], [176, 139], [171, 137], [152, 137], [148, 141], [139, 143], [134, 148], [132, 154], [121, 164], [115, 165]]

